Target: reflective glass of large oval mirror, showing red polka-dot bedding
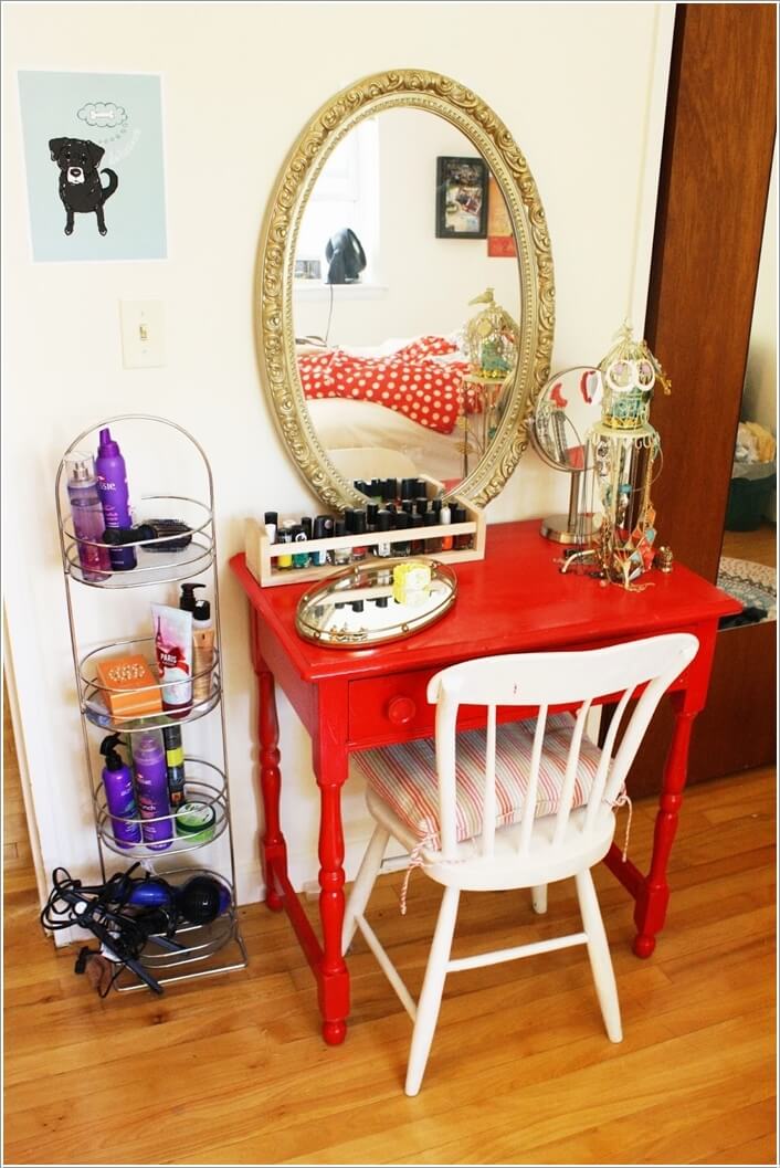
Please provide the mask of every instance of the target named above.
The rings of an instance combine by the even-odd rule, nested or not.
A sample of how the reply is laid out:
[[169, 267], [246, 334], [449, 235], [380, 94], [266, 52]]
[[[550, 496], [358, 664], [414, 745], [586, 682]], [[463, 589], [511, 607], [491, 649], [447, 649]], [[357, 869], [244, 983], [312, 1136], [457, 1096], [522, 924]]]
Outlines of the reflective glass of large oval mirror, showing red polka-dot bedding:
[[488, 287], [521, 315], [509, 214], [488, 179], [457, 127], [410, 109], [360, 123], [318, 176], [295, 250], [298, 370], [314, 430], [349, 478], [356, 450], [385, 465], [379, 452], [392, 451], [399, 473], [454, 486], [483, 453], [493, 426], [476, 415], [496, 394], [464, 384], [466, 328]]

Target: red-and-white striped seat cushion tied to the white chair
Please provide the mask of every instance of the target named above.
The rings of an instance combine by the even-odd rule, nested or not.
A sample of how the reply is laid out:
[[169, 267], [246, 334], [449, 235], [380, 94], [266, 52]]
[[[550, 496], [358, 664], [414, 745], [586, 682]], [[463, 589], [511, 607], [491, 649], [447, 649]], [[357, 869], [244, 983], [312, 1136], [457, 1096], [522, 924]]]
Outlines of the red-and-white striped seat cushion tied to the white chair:
[[[536, 815], [558, 809], [574, 719], [569, 714], [548, 718], [536, 792]], [[531, 763], [536, 721], [509, 722], [496, 730], [496, 826], [520, 821]], [[485, 730], [458, 735], [455, 825], [458, 840], [482, 828]], [[573, 807], [587, 802], [601, 751], [583, 736]], [[439, 799], [433, 738], [394, 743], [353, 755], [365, 781], [420, 840], [439, 847]]]

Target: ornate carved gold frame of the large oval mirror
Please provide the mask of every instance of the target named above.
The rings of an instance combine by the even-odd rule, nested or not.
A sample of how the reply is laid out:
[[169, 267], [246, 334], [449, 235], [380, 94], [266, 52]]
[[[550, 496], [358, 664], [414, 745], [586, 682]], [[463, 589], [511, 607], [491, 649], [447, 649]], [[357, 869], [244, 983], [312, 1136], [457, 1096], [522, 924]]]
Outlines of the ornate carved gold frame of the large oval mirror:
[[312, 426], [295, 359], [293, 273], [302, 213], [335, 146], [364, 118], [395, 107], [420, 109], [452, 123], [476, 147], [509, 210], [521, 285], [515, 383], [499, 430], [458, 487], [482, 507], [503, 487], [528, 445], [527, 420], [549, 376], [555, 325], [552, 255], [544, 209], [528, 164], [493, 110], [440, 74], [399, 69], [342, 90], [312, 118], [288, 154], [269, 203], [256, 269], [256, 340], [260, 374], [281, 437], [298, 470], [332, 507], [360, 501]]

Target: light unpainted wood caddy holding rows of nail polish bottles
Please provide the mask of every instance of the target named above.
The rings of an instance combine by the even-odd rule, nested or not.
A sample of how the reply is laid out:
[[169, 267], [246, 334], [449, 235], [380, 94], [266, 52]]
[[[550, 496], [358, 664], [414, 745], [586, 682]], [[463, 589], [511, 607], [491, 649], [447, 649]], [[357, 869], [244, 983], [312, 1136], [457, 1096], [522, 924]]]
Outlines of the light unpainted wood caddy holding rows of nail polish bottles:
[[[438, 484], [434, 480], [427, 481], [434, 487], [438, 487]], [[413, 537], [416, 540], [422, 540], [423, 545], [426, 549], [429, 541], [432, 542], [433, 540], [441, 538], [454, 540], [459, 535], [469, 535], [473, 547], [453, 548], [451, 551], [429, 551], [426, 549], [422, 552], [415, 552], [413, 555], [410, 554], [409, 558], [413, 559], [417, 555], [430, 556], [431, 559], [438, 559], [443, 564], [462, 563], [467, 559], [483, 559], [483, 513], [460, 495], [453, 494], [447, 495], [446, 498], [448, 502], [465, 508], [467, 515], [466, 521], [464, 523], [439, 523], [436, 527], [415, 528]], [[322, 564], [321, 566], [283, 569], [276, 566], [274, 561], [279, 556], [290, 556], [295, 552], [308, 552], [311, 555], [314, 551], [333, 551], [336, 548], [368, 548], [369, 552], [364, 559], [361, 559], [361, 566], [365, 566], [371, 563], [382, 563], [381, 557], [374, 556], [370, 552], [371, 542], [377, 542], [377, 533], [368, 535], [336, 535], [332, 536], [329, 540], [301, 540], [298, 543], [270, 543], [269, 537], [265, 534], [265, 527], [256, 519], [248, 519], [245, 523], [244, 538], [246, 566], [251, 571], [255, 579], [258, 580], [263, 588], [274, 588], [277, 584], [305, 584], [308, 580], [322, 579], [325, 576], [333, 575], [334, 571], [349, 566], [348, 564]], [[411, 538], [411, 528], [405, 528], [401, 531], [381, 533], [382, 543], [389, 543], [391, 545], [396, 543], [409, 543]], [[396, 555], [396, 552], [394, 552], [394, 555]], [[399, 552], [397, 555], [399, 555]]]

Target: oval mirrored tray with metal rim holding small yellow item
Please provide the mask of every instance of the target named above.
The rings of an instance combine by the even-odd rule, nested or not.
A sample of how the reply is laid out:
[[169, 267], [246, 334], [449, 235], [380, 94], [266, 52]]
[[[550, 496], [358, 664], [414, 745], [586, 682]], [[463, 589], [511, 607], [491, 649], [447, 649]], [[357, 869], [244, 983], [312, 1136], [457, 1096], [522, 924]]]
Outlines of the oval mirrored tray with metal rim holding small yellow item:
[[[430, 570], [423, 588], [404, 589], [396, 568]], [[394, 582], [395, 580], [395, 582]], [[408, 577], [409, 580], [409, 577]], [[424, 556], [351, 564], [309, 589], [298, 602], [295, 627], [307, 641], [332, 648], [371, 648], [411, 637], [432, 625], [454, 604], [458, 578], [446, 564]]]

